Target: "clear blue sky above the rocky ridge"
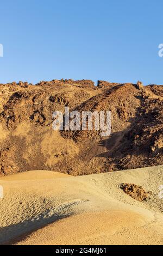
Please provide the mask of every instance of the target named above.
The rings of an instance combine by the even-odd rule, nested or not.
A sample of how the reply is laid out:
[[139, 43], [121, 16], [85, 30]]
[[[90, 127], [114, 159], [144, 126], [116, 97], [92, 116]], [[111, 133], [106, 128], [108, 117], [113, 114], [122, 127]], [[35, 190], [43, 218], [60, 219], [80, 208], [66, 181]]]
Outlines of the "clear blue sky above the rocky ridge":
[[0, 83], [163, 84], [162, 0], [6, 0], [0, 10]]

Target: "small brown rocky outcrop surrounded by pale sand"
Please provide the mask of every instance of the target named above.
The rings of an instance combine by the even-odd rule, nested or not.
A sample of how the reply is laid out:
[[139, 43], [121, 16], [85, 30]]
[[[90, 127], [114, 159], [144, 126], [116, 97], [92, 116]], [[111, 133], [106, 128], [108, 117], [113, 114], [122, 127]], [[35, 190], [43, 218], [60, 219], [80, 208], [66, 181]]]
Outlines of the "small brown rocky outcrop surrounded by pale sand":
[[143, 201], [149, 197], [149, 193], [146, 192], [141, 186], [135, 184], [122, 184], [123, 191], [128, 194], [131, 198], [136, 199], [137, 201]]

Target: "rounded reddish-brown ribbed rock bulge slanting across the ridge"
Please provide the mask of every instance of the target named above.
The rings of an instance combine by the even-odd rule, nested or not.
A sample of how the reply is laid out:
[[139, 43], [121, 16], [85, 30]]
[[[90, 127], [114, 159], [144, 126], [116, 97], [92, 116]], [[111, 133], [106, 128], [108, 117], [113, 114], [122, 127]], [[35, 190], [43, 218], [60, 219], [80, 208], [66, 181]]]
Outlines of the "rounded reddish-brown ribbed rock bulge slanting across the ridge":
[[[136, 97], [137, 96], [137, 97]], [[102, 93], [97, 94], [91, 99], [83, 102], [82, 105], [73, 110], [82, 113], [82, 111], [111, 111], [112, 115], [112, 133], [126, 129], [130, 118], [134, 117], [136, 107], [139, 106], [140, 91], [133, 84], [126, 83], [123, 86], [115, 86], [110, 89], [104, 89]], [[76, 142], [92, 141], [102, 139], [97, 131], [63, 131], [64, 138], [71, 138]]]

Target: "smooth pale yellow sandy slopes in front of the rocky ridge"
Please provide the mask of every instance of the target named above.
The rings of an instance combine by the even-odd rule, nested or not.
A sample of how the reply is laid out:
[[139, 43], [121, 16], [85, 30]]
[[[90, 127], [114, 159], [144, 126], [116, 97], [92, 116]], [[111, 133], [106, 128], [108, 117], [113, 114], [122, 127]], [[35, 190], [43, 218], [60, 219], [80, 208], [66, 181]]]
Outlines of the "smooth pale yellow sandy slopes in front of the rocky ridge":
[[[120, 188], [126, 182], [151, 190], [151, 199], [129, 197]], [[37, 170], [0, 185], [0, 244], [162, 244], [163, 166], [76, 177]]]

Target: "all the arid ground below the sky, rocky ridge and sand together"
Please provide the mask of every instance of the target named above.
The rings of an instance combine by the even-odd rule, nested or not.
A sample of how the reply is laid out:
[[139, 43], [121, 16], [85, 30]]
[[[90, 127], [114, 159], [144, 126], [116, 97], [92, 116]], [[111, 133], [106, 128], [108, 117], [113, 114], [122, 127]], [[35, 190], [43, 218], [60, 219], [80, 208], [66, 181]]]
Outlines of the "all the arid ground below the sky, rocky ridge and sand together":
[[[161, 245], [163, 86], [12, 82], [0, 99], [1, 245]], [[54, 131], [65, 106], [111, 111], [111, 135]]]

